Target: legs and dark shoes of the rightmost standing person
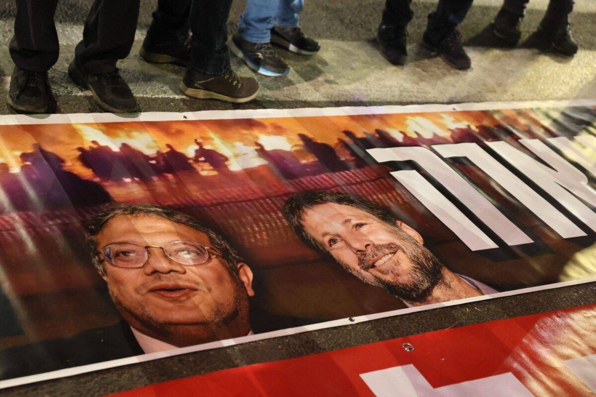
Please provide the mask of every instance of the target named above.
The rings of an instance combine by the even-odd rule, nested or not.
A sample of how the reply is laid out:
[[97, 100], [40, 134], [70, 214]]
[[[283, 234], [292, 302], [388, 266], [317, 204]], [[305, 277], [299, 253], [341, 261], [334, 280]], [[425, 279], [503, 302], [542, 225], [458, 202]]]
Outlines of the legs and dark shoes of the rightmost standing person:
[[[493, 23], [495, 36], [515, 46], [522, 36], [520, 23], [530, 0], [505, 0]], [[560, 54], [573, 57], [578, 44], [573, 40], [569, 15], [574, 0], [551, 0], [538, 27], [538, 33], [547, 45]]]

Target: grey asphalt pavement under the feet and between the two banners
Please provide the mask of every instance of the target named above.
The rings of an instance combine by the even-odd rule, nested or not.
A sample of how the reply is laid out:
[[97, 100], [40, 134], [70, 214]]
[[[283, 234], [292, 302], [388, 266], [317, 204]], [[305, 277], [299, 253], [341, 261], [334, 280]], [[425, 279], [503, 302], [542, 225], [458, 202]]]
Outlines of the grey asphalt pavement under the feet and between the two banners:
[[[0, 37], [4, 42], [8, 42], [12, 35], [14, 3], [14, 0], [0, 0]], [[74, 46], [82, 35], [82, 21], [89, 3], [86, 0], [61, 1], [55, 18], [61, 55], [49, 76], [59, 111], [64, 113], [100, 111], [89, 93], [82, 92], [66, 76]], [[134, 48], [131, 56], [119, 65], [142, 111], [596, 98], [596, 2], [593, 1], [576, 4], [572, 24], [581, 50], [573, 59], [568, 59], [543, 54], [531, 48], [531, 40], [528, 40], [547, 7], [546, 0], [530, 2], [522, 26], [522, 44], [517, 49], [493, 47], [488, 26], [501, 2], [477, 0], [461, 26], [473, 68], [456, 71], [440, 59], [427, 58], [417, 44], [424, 31], [426, 14], [436, 4], [434, 0], [416, 0], [412, 4], [415, 18], [409, 26], [410, 56], [403, 67], [387, 63], [378, 54], [374, 43], [383, 1], [312, 0], [307, 2], [302, 26], [306, 33], [321, 42], [321, 51], [310, 58], [284, 52], [283, 56], [292, 68], [290, 74], [279, 78], [258, 76], [262, 86], [259, 97], [245, 105], [185, 98], [178, 91], [184, 73], [182, 68], [150, 65], [141, 60], [138, 49], [155, 3], [142, 0]], [[234, 31], [243, 7], [243, 2], [234, 2], [229, 33]], [[0, 48], [2, 98], [7, 92], [12, 67], [8, 49]], [[242, 76], [254, 76], [234, 57], [232, 67]], [[0, 99], [0, 114], [9, 112]], [[111, 368], [0, 390], [0, 396], [104, 395], [238, 365], [282, 360], [446, 327], [594, 303], [596, 283], [588, 283]]]

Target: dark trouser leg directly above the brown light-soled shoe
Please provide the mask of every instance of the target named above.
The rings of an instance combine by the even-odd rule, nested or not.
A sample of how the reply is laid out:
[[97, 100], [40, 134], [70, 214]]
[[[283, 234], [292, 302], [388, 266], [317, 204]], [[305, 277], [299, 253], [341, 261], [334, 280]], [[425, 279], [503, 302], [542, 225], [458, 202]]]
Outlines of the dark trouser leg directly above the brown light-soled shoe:
[[221, 76], [229, 70], [226, 23], [231, 6], [232, 0], [193, 0], [191, 70], [204, 76]]

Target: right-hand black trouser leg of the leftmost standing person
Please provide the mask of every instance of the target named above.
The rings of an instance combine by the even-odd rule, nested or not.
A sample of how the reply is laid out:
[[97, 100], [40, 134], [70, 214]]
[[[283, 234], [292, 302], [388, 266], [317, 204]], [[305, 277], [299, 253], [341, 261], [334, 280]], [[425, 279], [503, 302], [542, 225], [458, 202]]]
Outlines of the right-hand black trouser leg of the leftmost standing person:
[[[44, 1], [44, 0], [40, 0]], [[140, 0], [95, 0], [77, 44], [75, 57], [87, 73], [116, 70], [135, 40]]]

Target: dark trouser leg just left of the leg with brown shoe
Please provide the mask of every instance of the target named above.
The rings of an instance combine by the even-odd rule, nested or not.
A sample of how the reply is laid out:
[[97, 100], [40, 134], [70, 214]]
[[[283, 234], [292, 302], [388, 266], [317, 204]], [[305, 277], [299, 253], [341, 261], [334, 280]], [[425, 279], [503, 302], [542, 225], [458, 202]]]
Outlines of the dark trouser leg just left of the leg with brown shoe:
[[159, 0], [147, 36], [161, 43], [188, 37], [191, 0]]

